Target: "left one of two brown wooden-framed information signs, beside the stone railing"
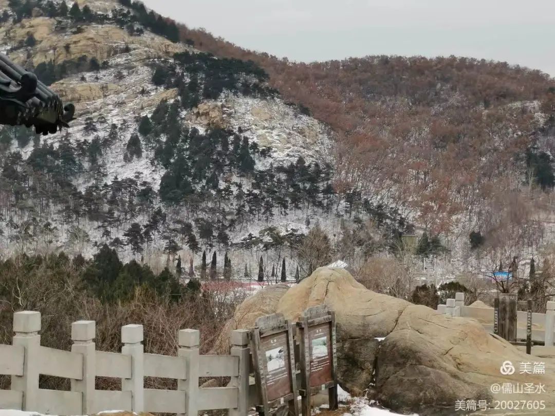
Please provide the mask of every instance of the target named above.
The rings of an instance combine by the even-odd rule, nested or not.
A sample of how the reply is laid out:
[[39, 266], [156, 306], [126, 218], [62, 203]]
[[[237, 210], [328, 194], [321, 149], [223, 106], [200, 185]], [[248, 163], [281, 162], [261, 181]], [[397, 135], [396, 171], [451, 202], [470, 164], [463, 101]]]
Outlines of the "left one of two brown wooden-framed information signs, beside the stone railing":
[[265, 416], [283, 413], [298, 416], [294, 327], [281, 313], [261, 316], [251, 329], [254, 375], [261, 403], [256, 411]]

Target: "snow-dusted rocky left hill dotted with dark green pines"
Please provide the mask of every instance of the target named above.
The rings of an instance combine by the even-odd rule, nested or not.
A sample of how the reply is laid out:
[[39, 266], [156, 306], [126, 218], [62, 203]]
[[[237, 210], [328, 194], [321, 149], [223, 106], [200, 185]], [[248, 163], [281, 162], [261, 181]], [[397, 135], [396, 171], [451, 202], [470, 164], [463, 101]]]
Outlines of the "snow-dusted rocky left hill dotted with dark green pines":
[[185, 275], [192, 258], [206, 275], [212, 256], [213, 277], [292, 280], [398, 250], [408, 221], [334, 186], [329, 129], [258, 64], [178, 42], [140, 3], [79, 4], [10, 0], [0, 13], [3, 50], [78, 117], [47, 138], [0, 131], [4, 252], [90, 258], [107, 244], [157, 272]]

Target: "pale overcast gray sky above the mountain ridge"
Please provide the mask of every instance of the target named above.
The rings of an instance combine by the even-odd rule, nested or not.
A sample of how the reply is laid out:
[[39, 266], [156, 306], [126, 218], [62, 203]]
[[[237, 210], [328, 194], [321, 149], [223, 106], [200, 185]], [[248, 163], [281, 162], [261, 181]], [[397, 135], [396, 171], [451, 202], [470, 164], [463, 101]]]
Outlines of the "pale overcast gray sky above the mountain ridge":
[[189, 27], [290, 60], [458, 55], [555, 75], [553, 0], [144, 0]]

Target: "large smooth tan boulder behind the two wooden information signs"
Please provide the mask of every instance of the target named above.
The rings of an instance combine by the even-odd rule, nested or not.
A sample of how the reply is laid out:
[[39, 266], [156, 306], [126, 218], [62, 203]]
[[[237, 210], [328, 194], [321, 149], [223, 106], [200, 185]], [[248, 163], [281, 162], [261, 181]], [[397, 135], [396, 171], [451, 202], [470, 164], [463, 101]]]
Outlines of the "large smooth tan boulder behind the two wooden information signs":
[[[284, 294], [262, 302], [256, 294], [238, 308], [233, 327], [251, 327], [265, 313], [298, 319], [305, 308], [322, 303], [336, 314], [338, 377], [350, 393], [367, 392], [398, 412], [455, 414], [457, 400], [545, 400], [555, 402], [555, 362], [545, 374], [519, 374], [520, 363], [540, 361], [493, 336], [470, 318], [447, 317], [431, 308], [367, 290], [340, 268], [321, 267]], [[277, 302], [276, 302], [277, 299]], [[274, 307], [273, 307], [274, 306]], [[513, 374], [500, 367], [511, 361]], [[541, 383], [541, 394], [492, 394], [493, 383]]]

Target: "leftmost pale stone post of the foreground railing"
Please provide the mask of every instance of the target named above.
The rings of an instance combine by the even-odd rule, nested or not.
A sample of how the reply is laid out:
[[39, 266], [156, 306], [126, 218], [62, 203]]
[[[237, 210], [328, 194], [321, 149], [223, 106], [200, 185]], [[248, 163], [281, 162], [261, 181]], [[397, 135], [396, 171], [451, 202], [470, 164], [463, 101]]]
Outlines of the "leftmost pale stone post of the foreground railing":
[[41, 347], [41, 312], [23, 311], [13, 314], [14, 346], [24, 348], [23, 376], [12, 376], [12, 390], [23, 392], [23, 410], [37, 410], [38, 354]]

